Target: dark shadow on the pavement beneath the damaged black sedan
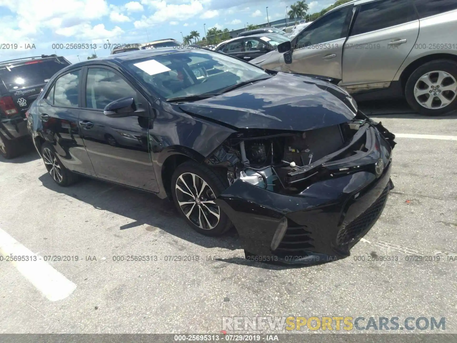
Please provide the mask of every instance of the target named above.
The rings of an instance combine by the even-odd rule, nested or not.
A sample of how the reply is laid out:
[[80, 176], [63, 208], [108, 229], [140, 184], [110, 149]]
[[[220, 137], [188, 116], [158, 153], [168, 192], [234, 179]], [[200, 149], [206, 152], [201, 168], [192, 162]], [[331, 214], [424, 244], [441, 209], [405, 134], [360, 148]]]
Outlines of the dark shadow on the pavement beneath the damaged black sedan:
[[[86, 177], [81, 177], [79, 182], [70, 187], [58, 186], [48, 173], [43, 174], [38, 179], [44, 187], [53, 192], [66, 194], [69, 197], [90, 204], [95, 209], [106, 210], [134, 220], [133, 223], [119, 226], [118, 230], [133, 230], [145, 225], [145, 228], [141, 228], [142, 230], [163, 230], [172, 236], [204, 248], [220, 247], [232, 251], [242, 249], [238, 233], [234, 228], [223, 236], [203, 236], [187, 226], [186, 222], [181, 219], [173, 202], [160, 199], [154, 194]], [[247, 260], [244, 256], [216, 258], [216, 260], [275, 270], [303, 267], [261, 263]]]

